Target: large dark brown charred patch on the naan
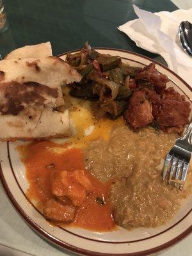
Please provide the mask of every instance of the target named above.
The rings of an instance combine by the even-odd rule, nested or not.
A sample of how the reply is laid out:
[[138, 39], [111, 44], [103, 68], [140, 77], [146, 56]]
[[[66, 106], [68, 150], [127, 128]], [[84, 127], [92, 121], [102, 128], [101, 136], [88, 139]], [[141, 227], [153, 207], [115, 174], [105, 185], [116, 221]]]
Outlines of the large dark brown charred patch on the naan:
[[1, 90], [4, 92], [4, 102], [0, 104], [2, 115], [18, 115], [26, 106], [33, 104], [44, 105], [47, 97], [57, 98], [58, 89], [50, 88], [45, 84], [36, 82], [1, 83]]

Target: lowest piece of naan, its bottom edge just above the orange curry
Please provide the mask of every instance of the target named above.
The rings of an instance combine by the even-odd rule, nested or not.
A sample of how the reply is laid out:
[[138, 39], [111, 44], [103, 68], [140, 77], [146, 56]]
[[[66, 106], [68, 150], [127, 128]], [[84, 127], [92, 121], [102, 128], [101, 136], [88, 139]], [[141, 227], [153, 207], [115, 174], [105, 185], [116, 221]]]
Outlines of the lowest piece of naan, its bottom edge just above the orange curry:
[[0, 117], [0, 138], [4, 141], [63, 138], [70, 134], [68, 110], [57, 112], [35, 105], [25, 108], [17, 116]]

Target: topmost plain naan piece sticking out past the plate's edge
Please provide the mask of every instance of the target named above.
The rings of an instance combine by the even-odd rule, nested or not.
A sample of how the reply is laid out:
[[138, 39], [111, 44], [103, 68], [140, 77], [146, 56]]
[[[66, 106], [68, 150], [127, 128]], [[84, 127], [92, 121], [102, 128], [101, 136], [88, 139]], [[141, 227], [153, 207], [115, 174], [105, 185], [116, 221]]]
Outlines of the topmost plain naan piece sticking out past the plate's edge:
[[42, 58], [52, 56], [51, 43], [46, 42], [36, 45], [26, 45], [15, 49], [5, 56], [4, 60], [17, 60], [23, 58]]

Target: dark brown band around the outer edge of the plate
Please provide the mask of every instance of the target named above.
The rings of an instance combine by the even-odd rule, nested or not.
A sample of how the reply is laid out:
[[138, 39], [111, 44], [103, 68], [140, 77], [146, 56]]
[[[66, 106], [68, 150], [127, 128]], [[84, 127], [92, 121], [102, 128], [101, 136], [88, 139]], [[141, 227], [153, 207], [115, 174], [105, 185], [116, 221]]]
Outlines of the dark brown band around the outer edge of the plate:
[[[132, 55], [135, 55], [135, 56], [139, 56], [140, 58], [144, 58], [145, 60], [154, 62], [157, 65], [166, 69], [168, 72], [172, 73], [173, 76], [177, 77], [177, 79], [179, 79], [183, 84], [185, 84], [185, 86], [188, 87], [188, 89], [192, 92], [191, 86], [189, 86], [189, 84], [186, 83], [186, 81], [184, 81], [184, 79], [182, 79], [179, 75], [175, 74], [175, 72], [170, 70], [165, 65], [159, 63], [156, 60], [152, 60], [151, 58], [148, 58], [147, 56], [143, 56], [143, 55], [138, 54], [136, 52], [126, 51], [124, 49], [116, 49], [116, 48], [110, 48], [110, 47], [93, 47], [93, 49], [125, 52], [127, 54], [132, 54]], [[81, 49], [76, 49], [76, 50], [73, 50], [73, 51], [67, 51], [67, 52], [64, 52], [62, 54], [59, 54], [56, 57], [61, 57], [63, 55], [66, 55], [67, 53], [72, 53], [72, 52], [76, 52], [76, 51], [80, 51], [80, 50]], [[184, 230], [184, 232], [179, 234], [179, 236], [174, 237], [172, 240], [168, 241], [167, 243], [161, 244], [159, 246], [156, 246], [154, 248], [150, 248], [150, 249], [145, 250], [145, 251], [134, 252], [134, 253], [118, 253], [118, 254], [116, 254], [116, 253], [111, 254], [111, 253], [92, 252], [90, 250], [82, 249], [82, 248], [76, 247], [72, 244], [68, 244], [65, 241], [61, 241], [60, 239], [57, 239], [56, 237], [47, 233], [43, 228], [41, 228], [39, 225], [37, 225], [35, 223], [35, 221], [33, 221], [28, 216], [28, 214], [26, 214], [26, 212], [22, 209], [22, 207], [20, 207], [20, 205], [17, 203], [17, 200], [15, 200], [15, 198], [14, 198], [12, 192], [10, 191], [10, 189], [8, 187], [8, 184], [6, 183], [6, 180], [4, 178], [3, 170], [1, 168], [1, 163], [0, 163], [0, 179], [1, 179], [1, 182], [3, 184], [4, 191], [6, 192], [6, 195], [8, 196], [8, 199], [12, 203], [15, 210], [19, 213], [19, 215], [24, 219], [24, 221], [26, 221], [26, 223], [29, 225], [29, 227], [33, 228], [33, 230], [35, 230], [35, 232], [38, 232], [38, 234], [40, 234], [40, 236], [43, 236], [45, 239], [48, 239], [49, 241], [51, 241], [51, 243], [54, 243], [54, 244], [60, 246], [61, 248], [64, 248], [65, 250], [68, 250], [70, 252], [75, 252], [75, 253], [78, 253], [78, 254], [81, 254], [81, 255], [88, 255], [88, 256], [90, 256], [90, 255], [95, 255], [95, 256], [96, 255], [98, 255], [98, 256], [109, 256], [109, 255], [113, 255], [113, 256], [117, 256], [117, 255], [122, 255], [122, 256], [136, 256], [136, 255], [146, 256], [146, 255], [150, 255], [152, 253], [157, 253], [159, 251], [165, 250], [166, 248], [169, 248], [170, 246], [173, 246], [174, 244], [178, 243], [179, 241], [184, 239], [184, 237], [188, 236], [192, 232], [192, 225], [191, 225], [188, 229]], [[191, 209], [191, 211], [192, 211], [192, 209]], [[189, 211], [189, 213], [191, 211]]]

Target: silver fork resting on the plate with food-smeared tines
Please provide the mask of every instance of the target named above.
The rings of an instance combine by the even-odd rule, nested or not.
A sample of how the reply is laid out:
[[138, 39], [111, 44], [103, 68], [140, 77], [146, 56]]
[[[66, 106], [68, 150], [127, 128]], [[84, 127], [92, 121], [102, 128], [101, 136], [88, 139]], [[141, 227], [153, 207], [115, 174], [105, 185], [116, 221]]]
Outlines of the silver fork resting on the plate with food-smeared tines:
[[189, 124], [186, 132], [183, 136], [175, 141], [175, 145], [170, 152], [166, 155], [163, 168], [163, 180], [165, 180], [168, 172], [168, 183], [174, 183], [174, 186], [179, 184], [179, 188], [182, 189], [184, 181], [188, 173], [189, 161], [191, 159], [192, 152], [192, 122]]

